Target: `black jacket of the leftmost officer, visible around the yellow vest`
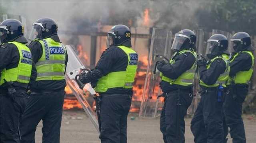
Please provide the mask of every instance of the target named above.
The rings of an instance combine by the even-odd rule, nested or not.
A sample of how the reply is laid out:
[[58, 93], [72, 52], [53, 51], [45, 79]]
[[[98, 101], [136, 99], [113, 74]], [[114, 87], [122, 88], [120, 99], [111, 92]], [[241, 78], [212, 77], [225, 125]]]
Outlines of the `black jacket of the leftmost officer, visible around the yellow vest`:
[[[23, 44], [28, 43], [28, 41], [25, 40], [25, 38], [17, 38], [14, 41], [20, 42]], [[2, 71], [6, 69], [13, 69], [18, 67], [20, 61], [20, 53], [18, 51], [18, 48], [16, 45], [12, 43], [4, 43], [0, 47], [0, 74]], [[28, 84], [20, 83], [20, 82], [14, 82], [13, 86], [15, 88], [22, 88], [27, 89]], [[3, 86], [1, 86], [1, 89], [3, 89]], [[1, 92], [4, 92], [1, 90]]]

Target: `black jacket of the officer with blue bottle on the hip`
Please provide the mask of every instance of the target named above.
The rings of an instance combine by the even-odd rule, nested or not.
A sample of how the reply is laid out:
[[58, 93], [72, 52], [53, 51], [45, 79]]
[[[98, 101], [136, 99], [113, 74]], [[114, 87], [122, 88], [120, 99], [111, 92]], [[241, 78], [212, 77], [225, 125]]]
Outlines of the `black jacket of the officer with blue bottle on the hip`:
[[[207, 64], [210, 64], [209, 61]], [[224, 73], [226, 70], [226, 63], [223, 59], [217, 58], [215, 59], [209, 69], [206, 69], [206, 66], [198, 67], [200, 80], [202, 80], [205, 84], [211, 85], [214, 84], [220, 74]], [[203, 89], [208, 89], [205, 86], [201, 86]]]

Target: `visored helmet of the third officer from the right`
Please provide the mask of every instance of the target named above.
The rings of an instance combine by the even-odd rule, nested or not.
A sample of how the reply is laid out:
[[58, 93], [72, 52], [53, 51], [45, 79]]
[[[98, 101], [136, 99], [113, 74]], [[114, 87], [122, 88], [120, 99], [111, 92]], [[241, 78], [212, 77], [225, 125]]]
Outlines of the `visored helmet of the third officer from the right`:
[[196, 35], [189, 29], [183, 29], [175, 34], [172, 48], [175, 51], [194, 49], [196, 47]]

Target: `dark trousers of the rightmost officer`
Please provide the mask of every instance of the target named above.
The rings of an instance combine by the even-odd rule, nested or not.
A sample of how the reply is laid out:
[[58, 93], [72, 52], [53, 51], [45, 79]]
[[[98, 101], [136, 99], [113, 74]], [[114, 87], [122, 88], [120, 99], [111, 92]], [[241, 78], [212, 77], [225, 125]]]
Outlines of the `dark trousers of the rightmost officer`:
[[233, 143], [246, 143], [244, 122], [242, 119], [242, 104], [248, 92], [248, 86], [234, 86], [230, 88], [229, 94], [224, 102], [224, 115], [226, 123], [230, 128]]

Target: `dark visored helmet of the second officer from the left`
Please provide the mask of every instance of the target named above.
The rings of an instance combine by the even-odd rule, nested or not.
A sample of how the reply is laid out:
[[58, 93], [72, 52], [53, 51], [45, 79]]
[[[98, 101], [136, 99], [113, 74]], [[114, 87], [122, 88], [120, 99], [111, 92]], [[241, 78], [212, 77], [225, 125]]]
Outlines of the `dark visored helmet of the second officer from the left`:
[[33, 29], [30, 33], [29, 39], [44, 39], [52, 35], [57, 35], [58, 25], [51, 18], [40, 18], [33, 23]]

